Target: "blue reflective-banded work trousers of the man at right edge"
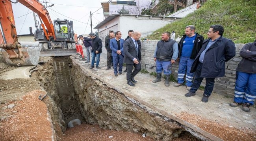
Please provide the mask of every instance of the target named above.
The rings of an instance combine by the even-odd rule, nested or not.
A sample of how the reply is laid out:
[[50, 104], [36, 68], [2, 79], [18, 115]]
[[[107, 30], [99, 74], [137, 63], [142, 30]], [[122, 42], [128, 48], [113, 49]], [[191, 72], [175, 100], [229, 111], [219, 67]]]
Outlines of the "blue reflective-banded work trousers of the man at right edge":
[[235, 102], [254, 104], [256, 98], [255, 80], [256, 74], [236, 72]]

